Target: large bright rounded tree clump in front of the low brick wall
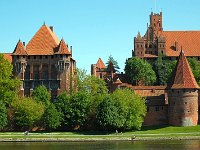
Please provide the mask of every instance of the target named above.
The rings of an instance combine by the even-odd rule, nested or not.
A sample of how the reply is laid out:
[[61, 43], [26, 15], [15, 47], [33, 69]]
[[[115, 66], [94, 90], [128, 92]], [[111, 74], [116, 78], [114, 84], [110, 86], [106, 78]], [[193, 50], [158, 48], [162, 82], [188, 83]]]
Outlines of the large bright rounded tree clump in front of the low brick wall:
[[140, 129], [145, 115], [144, 99], [130, 89], [119, 89], [99, 104], [97, 122], [105, 128]]

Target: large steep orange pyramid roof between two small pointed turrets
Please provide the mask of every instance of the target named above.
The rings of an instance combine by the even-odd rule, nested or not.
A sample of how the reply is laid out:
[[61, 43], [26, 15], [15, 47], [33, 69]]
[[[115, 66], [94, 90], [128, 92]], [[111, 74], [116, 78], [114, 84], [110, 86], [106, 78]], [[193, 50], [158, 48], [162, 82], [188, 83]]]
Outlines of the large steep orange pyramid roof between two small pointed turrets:
[[26, 46], [28, 55], [53, 55], [59, 39], [51, 29], [43, 25]]

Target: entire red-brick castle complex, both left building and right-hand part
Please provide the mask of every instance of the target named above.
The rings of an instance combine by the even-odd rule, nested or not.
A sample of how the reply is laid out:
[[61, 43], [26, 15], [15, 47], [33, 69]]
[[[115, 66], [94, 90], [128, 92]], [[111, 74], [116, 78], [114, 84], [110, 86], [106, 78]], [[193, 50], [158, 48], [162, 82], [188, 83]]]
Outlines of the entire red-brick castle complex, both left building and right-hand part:
[[[105, 79], [110, 92], [128, 87], [145, 97], [144, 125], [197, 125], [199, 86], [186, 56], [200, 60], [199, 45], [200, 31], [163, 31], [162, 12], [151, 13], [146, 34], [138, 33], [134, 38], [133, 57], [154, 60], [163, 54], [178, 59], [172, 82], [167, 86], [133, 86], [123, 73], [115, 72], [112, 63], [106, 67], [101, 59], [91, 66], [91, 74]], [[44, 24], [27, 45], [19, 40], [13, 53], [4, 57], [13, 64], [13, 74], [22, 81], [21, 96], [30, 96], [38, 85], [44, 85], [52, 98], [64, 91], [70, 93], [75, 87], [72, 47], [58, 39], [53, 27]]]

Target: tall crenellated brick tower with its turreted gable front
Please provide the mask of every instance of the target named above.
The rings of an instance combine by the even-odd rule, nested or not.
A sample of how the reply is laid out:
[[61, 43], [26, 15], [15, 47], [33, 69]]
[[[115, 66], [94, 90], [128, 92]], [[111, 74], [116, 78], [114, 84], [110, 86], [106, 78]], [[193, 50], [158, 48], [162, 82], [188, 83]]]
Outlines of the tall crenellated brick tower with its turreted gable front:
[[138, 32], [134, 37], [134, 50], [132, 56], [139, 58], [156, 58], [158, 54], [165, 55], [165, 37], [162, 36], [162, 12], [150, 14], [150, 25], [147, 24], [147, 31], [144, 36]]

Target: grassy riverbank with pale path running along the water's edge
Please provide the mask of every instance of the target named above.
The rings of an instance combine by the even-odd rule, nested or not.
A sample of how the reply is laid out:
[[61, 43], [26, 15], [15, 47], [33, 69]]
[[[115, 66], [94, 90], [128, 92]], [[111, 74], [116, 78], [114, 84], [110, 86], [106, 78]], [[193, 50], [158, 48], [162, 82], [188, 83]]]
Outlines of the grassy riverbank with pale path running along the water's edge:
[[200, 140], [200, 126], [143, 127], [141, 131], [107, 133], [82, 132], [0, 132], [0, 142]]

